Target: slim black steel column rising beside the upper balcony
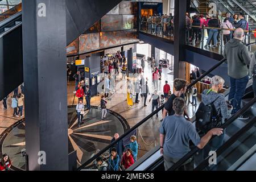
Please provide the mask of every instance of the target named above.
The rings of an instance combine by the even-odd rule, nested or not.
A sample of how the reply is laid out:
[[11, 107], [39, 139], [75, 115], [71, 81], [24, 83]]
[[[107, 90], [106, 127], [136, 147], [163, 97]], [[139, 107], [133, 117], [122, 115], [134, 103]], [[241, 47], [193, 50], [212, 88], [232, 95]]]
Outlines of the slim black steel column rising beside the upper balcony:
[[187, 0], [175, 0], [174, 10], [174, 78], [185, 78], [185, 13]]

